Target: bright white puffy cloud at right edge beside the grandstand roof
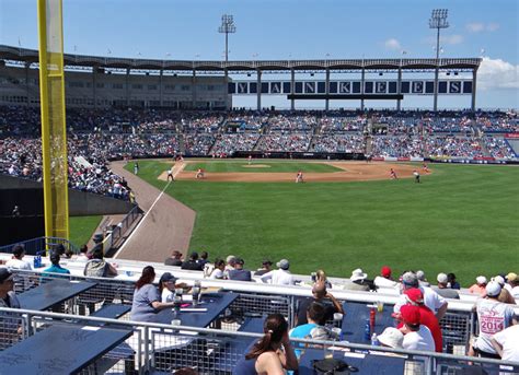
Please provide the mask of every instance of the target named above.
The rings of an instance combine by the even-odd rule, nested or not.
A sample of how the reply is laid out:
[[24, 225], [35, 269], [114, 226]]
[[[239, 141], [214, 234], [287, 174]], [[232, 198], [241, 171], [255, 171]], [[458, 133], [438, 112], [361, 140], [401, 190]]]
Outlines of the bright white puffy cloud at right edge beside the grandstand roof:
[[519, 89], [519, 65], [501, 59], [483, 58], [477, 70], [478, 89]]

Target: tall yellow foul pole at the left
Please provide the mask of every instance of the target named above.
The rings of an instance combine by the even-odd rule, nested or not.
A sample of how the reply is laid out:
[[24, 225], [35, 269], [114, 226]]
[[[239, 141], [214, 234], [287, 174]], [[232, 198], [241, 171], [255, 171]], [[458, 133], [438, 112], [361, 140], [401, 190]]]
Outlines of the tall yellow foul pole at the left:
[[37, 0], [45, 235], [69, 238], [61, 0]]

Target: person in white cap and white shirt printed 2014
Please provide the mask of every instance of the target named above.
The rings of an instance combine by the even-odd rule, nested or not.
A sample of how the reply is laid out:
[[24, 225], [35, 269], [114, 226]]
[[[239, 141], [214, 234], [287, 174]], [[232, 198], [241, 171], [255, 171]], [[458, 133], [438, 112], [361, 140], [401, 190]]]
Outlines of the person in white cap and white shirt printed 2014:
[[480, 336], [469, 349], [469, 355], [499, 359], [492, 344], [492, 337], [511, 325], [514, 306], [499, 302], [501, 286], [497, 281], [486, 284], [486, 297], [478, 298], [474, 309], [477, 313]]

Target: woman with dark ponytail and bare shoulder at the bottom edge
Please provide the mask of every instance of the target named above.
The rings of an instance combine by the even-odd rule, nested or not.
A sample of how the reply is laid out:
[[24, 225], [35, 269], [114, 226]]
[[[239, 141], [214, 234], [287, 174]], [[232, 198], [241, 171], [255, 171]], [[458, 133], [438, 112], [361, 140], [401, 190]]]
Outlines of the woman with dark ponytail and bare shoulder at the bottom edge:
[[233, 375], [282, 375], [298, 370], [298, 360], [288, 337], [288, 323], [281, 314], [270, 314], [263, 325], [265, 336], [254, 342], [232, 372]]

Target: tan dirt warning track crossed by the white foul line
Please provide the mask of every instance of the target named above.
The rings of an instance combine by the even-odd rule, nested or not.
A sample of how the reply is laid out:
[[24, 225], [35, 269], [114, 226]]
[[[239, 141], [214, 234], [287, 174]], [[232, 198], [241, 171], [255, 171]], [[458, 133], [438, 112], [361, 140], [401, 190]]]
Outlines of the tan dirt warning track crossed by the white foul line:
[[[123, 161], [113, 162], [111, 168], [128, 181], [145, 216], [114, 258], [163, 262], [173, 250], [185, 255], [189, 248], [196, 212], [126, 171], [125, 164]], [[181, 169], [180, 165], [175, 165], [173, 174]]]

